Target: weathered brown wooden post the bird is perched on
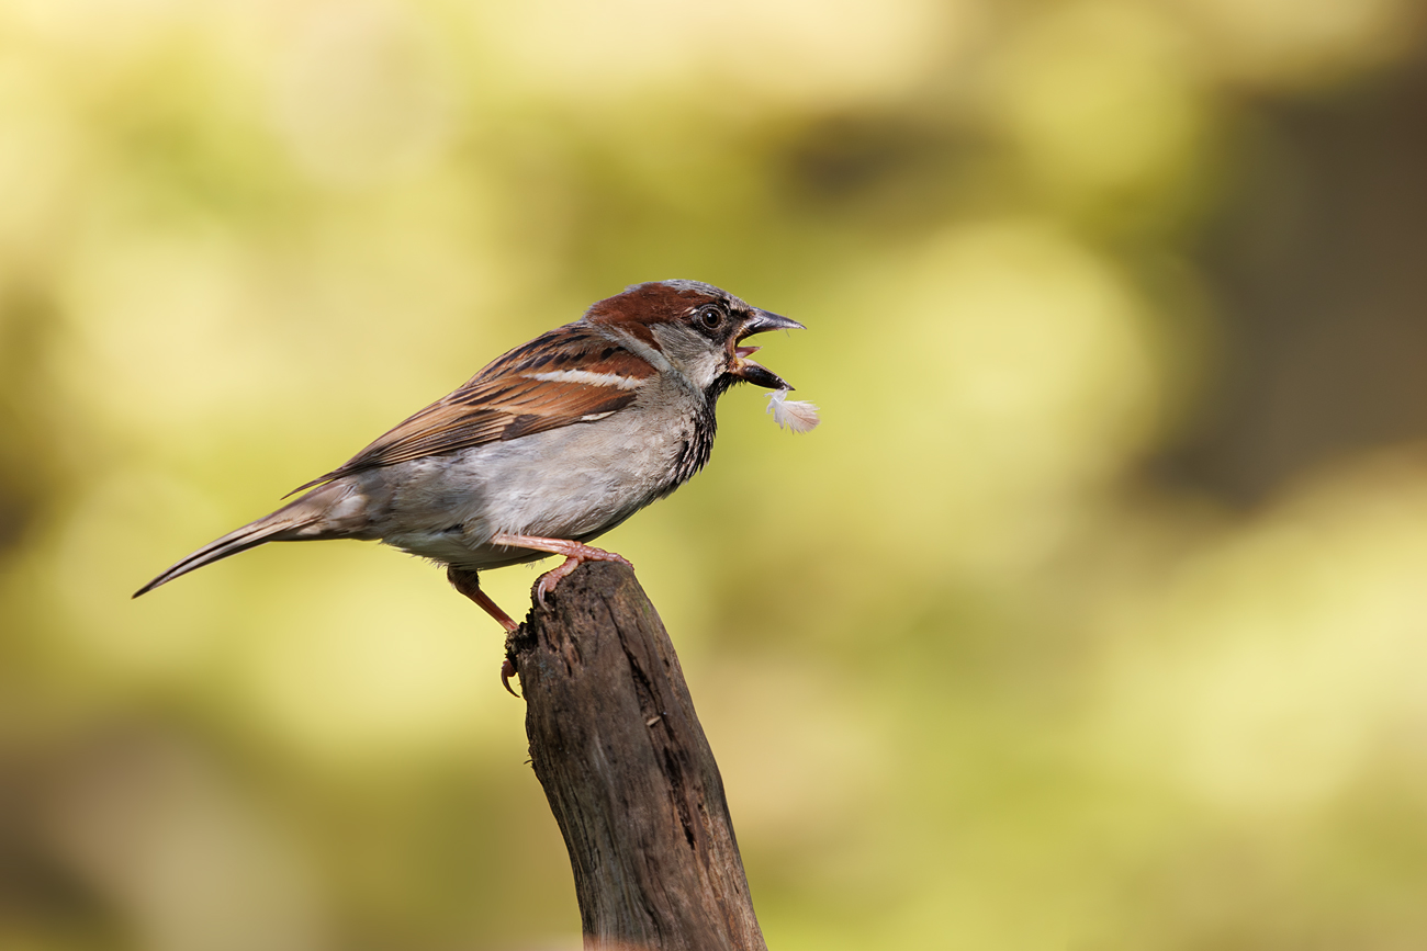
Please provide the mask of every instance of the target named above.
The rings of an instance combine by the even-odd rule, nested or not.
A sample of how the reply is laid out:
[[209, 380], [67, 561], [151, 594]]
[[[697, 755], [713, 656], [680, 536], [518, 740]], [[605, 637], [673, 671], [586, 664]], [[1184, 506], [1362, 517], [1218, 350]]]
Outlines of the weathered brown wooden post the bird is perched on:
[[586, 562], [509, 636], [585, 948], [766, 951], [723, 781], [634, 572]]

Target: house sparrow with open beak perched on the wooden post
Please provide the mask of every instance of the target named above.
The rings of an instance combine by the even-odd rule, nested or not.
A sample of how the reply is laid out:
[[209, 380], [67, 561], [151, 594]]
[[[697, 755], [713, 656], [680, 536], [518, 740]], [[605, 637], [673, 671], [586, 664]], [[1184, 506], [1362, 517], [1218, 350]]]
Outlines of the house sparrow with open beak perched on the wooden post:
[[544, 597], [581, 562], [628, 565], [586, 542], [704, 468], [729, 386], [791, 389], [741, 342], [793, 328], [803, 325], [698, 281], [636, 284], [517, 346], [134, 597], [265, 542], [377, 539], [445, 565], [457, 590], [515, 630], [477, 572], [564, 555], [537, 585]]

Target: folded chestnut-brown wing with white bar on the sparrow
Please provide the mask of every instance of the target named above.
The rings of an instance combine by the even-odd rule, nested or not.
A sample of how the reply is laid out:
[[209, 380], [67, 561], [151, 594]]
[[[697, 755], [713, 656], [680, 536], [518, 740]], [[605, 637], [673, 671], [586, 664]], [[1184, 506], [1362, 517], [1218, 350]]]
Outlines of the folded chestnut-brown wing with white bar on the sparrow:
[[290, 495], [364, 469], [594, 422], [628, 406], [651, 375], [641, 356], [585, 324], [569, 324], [517, 346]]

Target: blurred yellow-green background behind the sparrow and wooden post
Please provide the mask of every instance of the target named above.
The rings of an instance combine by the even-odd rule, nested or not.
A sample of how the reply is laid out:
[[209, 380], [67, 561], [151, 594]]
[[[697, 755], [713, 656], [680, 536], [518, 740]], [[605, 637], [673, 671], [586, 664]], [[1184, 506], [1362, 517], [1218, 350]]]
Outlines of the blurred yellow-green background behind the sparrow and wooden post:
[[0, 947], [579, 945], [440, 570], [128, 595], [668, 277], [823, 413], [605, 539], [772, 947], [1427, 947], [1423, 14], [0, 0]]

